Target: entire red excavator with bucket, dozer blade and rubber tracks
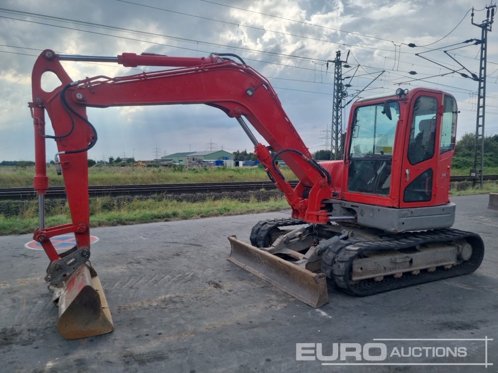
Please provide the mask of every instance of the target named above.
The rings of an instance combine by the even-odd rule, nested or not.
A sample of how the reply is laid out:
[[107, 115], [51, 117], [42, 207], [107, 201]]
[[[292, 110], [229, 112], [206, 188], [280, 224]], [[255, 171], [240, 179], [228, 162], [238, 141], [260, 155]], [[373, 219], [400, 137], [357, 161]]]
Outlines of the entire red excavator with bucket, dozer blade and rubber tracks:
[[[61, 61], [169, 69], [75, 81]], [[55, 74], [61, 85], [45, 92], [44, 74]], [[50, 260], [45, 280], [59, 306], [58, 331], [65, 338], [113, 330], [102, 285], [89, 263], [87, 152], [97, 142], [97, 130], [87, 118], [87, 107], [206, 104], [236, 118], [269, 178], [284, 193], [292, 217], [259, 221], [250, 244], [229, 237], [229, 259], [313, 307], [328, 301], [328, 282], [365, 296], [468, 274], [483, 260], [479, 235], [450, 229], [455, 219], [449, 187], [457, 124], [451, 94], [398, 89], [357, 100], [342, 160], [318, 163], [268, 80], [233, 54], [100, 57], [45, 50], [33, 69], [32, 90], [34, 188], [40, 212], [34, 239]], [[45, 132], [45, 111], [53, 135]], [[267, 145], [256, 140], [246, 119]], [[72, 216], [72, 223], [54, 227], [46, 227], [44, 217], [46, 139], [57, 143], [55, 162]], [[296, 187], [285, 180], [277, 157], [299, 179]], [[76, 246], [59, 254], [51, 238], [68, 233], [74, 233]]]

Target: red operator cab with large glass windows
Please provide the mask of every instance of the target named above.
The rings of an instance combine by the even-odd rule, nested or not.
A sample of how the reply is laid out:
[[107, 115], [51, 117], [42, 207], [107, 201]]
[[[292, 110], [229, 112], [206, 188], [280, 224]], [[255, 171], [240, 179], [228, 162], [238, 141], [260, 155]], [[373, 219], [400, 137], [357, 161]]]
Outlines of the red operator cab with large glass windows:
[[356, 101], [343, 198], [391, 207], [447, 203], [456, 117], [455, 98], [431, 89]]

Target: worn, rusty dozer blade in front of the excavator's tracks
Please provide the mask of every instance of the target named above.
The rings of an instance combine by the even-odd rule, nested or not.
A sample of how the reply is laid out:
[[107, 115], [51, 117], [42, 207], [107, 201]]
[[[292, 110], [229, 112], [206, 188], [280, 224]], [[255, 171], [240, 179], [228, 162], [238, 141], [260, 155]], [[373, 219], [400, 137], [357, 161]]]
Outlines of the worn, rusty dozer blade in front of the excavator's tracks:
[[229, 261], [312, 307], [327, 303], [329, 297], [325, 274], [298, 267], [235, 236], [228, 239], [232, 245]]

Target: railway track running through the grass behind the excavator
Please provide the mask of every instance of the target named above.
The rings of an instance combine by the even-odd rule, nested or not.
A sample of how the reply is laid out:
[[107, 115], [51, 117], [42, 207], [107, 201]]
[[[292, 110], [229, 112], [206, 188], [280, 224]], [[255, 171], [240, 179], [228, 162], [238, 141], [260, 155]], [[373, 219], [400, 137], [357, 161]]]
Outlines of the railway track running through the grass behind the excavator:
[[[452, 182], [472, 180], [468, 176], [452, 176]], [[498, 180], [498, 175], [485, 176], [484, 180]], [[292, 187], [297, 181], [289, 182]], [[251, 191], [259, 189], [275, 189], [272, 182], [244, 182], [244, 183], [201, 183], [201, 184], [152, 184], [152, 185], [111, 185], [89, 187], [89, 194], [95, 196], [117, 196], [117, 195], [151, 195], [151, 194], [182, 194], [182, 193], [209, 193], [209, 192], [231, 192]], [[0, 188], [0, 199], [32, 199], [36, 192], [32, 187]], [[47, 190], [47, 198], [65, 198], [64, 187], [50, 187]]]

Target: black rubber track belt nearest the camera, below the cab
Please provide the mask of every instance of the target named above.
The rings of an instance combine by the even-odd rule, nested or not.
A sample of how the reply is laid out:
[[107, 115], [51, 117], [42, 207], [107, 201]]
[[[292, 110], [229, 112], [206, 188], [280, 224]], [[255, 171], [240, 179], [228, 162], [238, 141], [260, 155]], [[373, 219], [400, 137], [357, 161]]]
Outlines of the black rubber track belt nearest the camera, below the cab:
[[[422, 270], [418, 275], [403, 273], [400, 278], [385, 277], [381, 281], [373, 279], [350, 282], [351, 266], [355, 258], [368, 251], [399, 250], [427, 243], [451, 242], [467, 239], [472, 245], [472, 256], [468, 261], [452, 266], [450, 269], [437, 267], [434, 272]], [[474, 272], [483, 261], [484, 243], [481, 237], [472, 232], [456, 229], [439, 229], [425, 232], [401, 233], [396, 236], [379, 237], [374, 240], [350, 238], [348, 240], [329, 240], [327, 252], [322, 257], [322, 271], [342, 290], [357, 296], [367, 296], [425, 282], [447, 279]]]

